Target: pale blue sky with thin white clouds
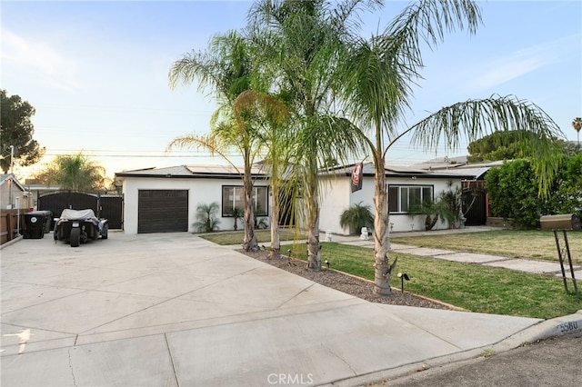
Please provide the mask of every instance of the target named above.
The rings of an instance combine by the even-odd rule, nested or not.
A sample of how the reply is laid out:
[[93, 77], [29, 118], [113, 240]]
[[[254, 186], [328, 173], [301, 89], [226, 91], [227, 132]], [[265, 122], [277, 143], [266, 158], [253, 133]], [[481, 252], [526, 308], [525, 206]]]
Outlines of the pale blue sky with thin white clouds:
[[[34, 168], [57, 154], [83, 152], [107, 174], [180, 164], [225, 164], [204, 151], [166, 145], [209, 132], [216, 105], [197, 84], [168, 85], [171, 65], [205, 50], [216, 34], [246, 25], [248, 1], [12, 1], [0, 4], [0, 88], [35, 107], [35, 140], [46, 148]], [[362, 35], [381, 31], [408, 2], [386, 1], [362, 14]], [[577, 140], [582, 116], [582, 2], [481, 1], [476, 35], [454, 32], [425, 50], [407, 125], [439, 108], [493, 94], [537, 104]], [[426, 153], [404, 137], [386, 164], [410, 165], [467, 154]]]

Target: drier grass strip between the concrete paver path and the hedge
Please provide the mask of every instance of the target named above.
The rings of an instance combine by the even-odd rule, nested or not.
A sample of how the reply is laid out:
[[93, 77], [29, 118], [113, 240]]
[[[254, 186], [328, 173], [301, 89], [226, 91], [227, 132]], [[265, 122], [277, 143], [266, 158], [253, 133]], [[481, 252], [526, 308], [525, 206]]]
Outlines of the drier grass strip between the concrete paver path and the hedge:
[[[557, 233], [561, 249], [565, 249], [564, 234]], [[582, 264], [582, 232], [567, 232], [570, 254], [575, 264]], [[468, 253], [487, 253], [512, 258], [557, 262], [556, 238], [551, 231], [496, 230], [482, 233], [448, 233], [410, 236], [392, 235], [393, 243], [411, 244]], [[567, 260], [567, 256], [565, 256]]]

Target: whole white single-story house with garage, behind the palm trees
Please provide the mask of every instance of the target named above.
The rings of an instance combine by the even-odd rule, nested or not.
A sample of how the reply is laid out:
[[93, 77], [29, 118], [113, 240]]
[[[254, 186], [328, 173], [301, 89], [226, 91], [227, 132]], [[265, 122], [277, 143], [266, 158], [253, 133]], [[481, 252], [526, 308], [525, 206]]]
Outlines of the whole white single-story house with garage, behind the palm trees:
[[[339, 225], [340, 214], [352, 204], [363, 203], [373, 208], [374, 167], [364, 164], [362, 189], [351, 192], [354, 165], [337, 167], [321, 174], [320, 230], [322, 233], [347, 234]], [[261, 164], [252, 170], [255, 181], [253, 194], [256, 216], [268, 224], [271, 196], [268, 175]], [[390, 230], [405, 232], [423, 230], [424, 218], [407, 212], [410, 196], [434, 199], [447, 189], [460, 186], [463, 178], [446, 171], [424, 171], [407, 167], [386, 167]], [[200, 204], [218, 203], [217, 218], [220, 230], [233, 230], [233, 208], [243, 206], [243, 184], [236, 168], [228, 165], [179, 165], [149, 168], [115, 174], [123, 187], [125, 233], [196, 232], [196, 208]], [[239, 221], [239, 228], [242, 220]], [[437, 223], [436, 228], [447, 227]]]

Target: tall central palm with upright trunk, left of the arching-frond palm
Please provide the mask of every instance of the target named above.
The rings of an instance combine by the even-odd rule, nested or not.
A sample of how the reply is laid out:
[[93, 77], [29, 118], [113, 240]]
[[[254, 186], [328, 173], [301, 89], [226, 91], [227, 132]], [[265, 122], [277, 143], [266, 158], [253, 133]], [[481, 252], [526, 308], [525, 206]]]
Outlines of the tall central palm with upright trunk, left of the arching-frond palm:
[[288, 97], [291, 120], [296, 125], [290, 165], [303, 187], [307, 267], [315, 271], [321, 270], [320, 169], [326, 160], [346, 160], [359, 145], [354, 125], [333, 113], [337, 55], [356, 24], [359, 7], [373, 8], [379, 3], [259, 0], [249, 11], [251, 27], [262, 32], [262, 58], [275, 74], [276, 90]]

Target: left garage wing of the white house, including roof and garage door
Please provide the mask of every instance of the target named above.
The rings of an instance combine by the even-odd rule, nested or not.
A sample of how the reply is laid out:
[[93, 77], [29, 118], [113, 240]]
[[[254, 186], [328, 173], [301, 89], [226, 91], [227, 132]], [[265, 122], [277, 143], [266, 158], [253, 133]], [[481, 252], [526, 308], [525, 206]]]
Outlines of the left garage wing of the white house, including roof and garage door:
[[[269, 187], [260, 167], [255, 180], [256, 216], [269, 216]], [[233, 230], [233, 208], [243, 208], [243, 182], [227, 165], [180, 165], [115, 174], [123, 186], [125, 233], [196, 232], [196, 208], [218, 203], [220, 230]], [[242, 222], [242, 221], [239, 221]], [[268, 223], [268, 219], [267, 219]], [[242, 224], [242, 223], [241, 223]]]

